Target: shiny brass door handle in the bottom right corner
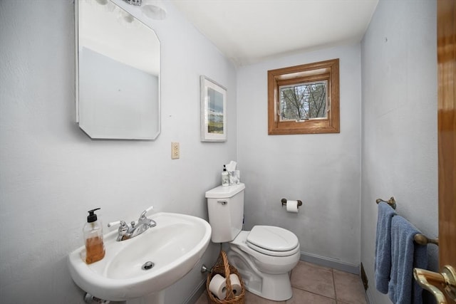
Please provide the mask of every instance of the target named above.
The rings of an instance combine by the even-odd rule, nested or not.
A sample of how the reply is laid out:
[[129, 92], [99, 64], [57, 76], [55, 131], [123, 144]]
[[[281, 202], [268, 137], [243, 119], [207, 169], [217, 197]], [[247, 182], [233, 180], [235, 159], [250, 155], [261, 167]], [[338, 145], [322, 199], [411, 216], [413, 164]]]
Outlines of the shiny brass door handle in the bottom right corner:
[[413, 268], [413, 276], [418, 284], [434, 295], [438, 304], [446, 304], [445, 295], [435, 287], [440, 285], [447, 295], [456, 301], [456, 270], [450, 265], [442, 268], [442, 273], [435, 273], [421, 268]]

